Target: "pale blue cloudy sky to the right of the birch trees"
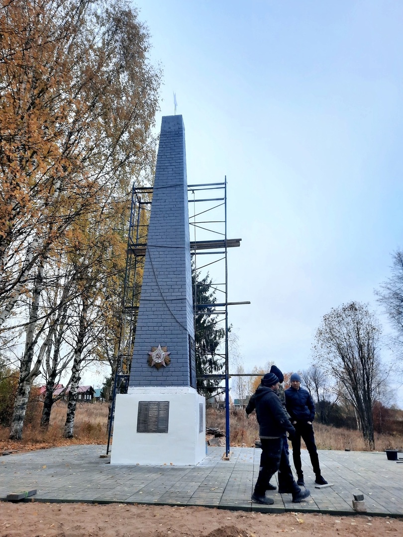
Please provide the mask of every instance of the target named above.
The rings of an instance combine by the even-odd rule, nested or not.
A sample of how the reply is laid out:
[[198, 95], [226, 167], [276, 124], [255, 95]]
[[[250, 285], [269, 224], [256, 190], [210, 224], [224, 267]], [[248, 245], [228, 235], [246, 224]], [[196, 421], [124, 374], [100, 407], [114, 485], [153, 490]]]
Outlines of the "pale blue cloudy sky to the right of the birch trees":
[[[248, 371], [307, 368], [321, 318], [403, 245], [403, 3], [138, 0], [188, 183], [228, 181], [229, 322]], [[387, 330], [387, 327], [385, 326]]]

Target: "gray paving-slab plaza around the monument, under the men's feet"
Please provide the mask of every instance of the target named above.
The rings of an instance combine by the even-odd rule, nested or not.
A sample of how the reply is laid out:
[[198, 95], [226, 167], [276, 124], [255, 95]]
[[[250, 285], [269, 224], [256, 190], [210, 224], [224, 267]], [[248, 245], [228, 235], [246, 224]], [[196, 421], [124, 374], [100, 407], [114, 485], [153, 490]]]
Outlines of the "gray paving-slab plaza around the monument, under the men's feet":
[[[280, 513], [284, 511], [356, 514], [354, 494], [363, 494], [366, 513], [403, 516], [403, 465], [384, 452], [319, 451], [323, 476], [332, 487], [316, 489], [306, 450], [301, 453], [306, 502], [290, 494], [268, 492], [274, 504], [251, 503], [260, 449], [235, 447], [229, 461], [223, 448], [209, 447], [197, 466], [110, 465], [104, 446], [69, 446], [0, 457], [0, 500], [17, 491], [37, 489], [39, 502], [203, 505]], [[25, 501], [31, 501], [27, 498]]]

